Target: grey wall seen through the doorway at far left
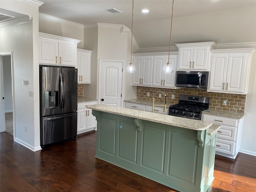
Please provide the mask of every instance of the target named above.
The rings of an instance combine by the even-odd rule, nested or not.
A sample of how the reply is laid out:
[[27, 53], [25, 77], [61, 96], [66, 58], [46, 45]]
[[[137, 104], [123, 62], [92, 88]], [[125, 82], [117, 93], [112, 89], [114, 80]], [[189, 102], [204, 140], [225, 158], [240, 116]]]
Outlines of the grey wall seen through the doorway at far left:
[[11, 56], [3, 56], [4, 112], [12, 112], [12, 65]]

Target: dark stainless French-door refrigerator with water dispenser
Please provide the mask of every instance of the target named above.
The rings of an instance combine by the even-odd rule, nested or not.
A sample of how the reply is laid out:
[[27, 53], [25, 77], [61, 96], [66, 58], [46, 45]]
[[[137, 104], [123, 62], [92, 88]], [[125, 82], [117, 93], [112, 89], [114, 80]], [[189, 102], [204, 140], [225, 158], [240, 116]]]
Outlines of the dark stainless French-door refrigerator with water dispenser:
[[40, 145], [77, 135], [77, 69], [40, 65]]

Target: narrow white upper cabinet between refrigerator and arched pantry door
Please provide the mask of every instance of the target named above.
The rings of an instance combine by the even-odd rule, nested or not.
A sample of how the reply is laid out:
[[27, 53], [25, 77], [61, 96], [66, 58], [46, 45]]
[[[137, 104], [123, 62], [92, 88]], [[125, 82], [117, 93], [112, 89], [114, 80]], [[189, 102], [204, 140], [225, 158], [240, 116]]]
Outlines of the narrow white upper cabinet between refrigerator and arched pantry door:
[[77, 78], [79, 84], [89, 84], [91, 82], [91, 53], [90, 50], [77, 49]]

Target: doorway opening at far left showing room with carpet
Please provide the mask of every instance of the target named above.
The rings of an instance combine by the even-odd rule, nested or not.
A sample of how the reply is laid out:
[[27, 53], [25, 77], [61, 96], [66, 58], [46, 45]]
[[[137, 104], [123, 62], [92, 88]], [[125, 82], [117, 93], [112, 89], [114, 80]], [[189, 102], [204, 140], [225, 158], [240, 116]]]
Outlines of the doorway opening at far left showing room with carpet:
[[11, 53], [0, 54], [0, 95], [1, 95], [1, 132], [7, 132], [14, 136], [14, 111], [12, 98], [12, 55]]

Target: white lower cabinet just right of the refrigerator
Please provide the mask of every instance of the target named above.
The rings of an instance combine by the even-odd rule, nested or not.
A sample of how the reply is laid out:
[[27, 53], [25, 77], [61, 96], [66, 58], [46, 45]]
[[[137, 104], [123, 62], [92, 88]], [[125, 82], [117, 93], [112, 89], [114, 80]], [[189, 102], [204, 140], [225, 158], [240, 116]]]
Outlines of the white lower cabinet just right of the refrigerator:
[[92, 115], [92, 110], [87, 109], [88, 105], [94, 104], [97, 104], [97, 102], [92, 101], [77, 104], [77, 134], [96, 129], [96, 118]]

